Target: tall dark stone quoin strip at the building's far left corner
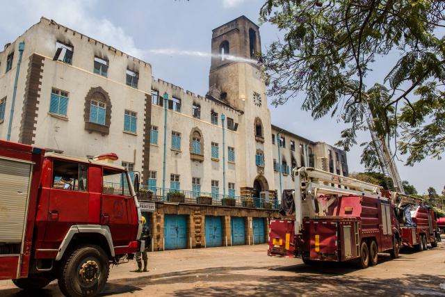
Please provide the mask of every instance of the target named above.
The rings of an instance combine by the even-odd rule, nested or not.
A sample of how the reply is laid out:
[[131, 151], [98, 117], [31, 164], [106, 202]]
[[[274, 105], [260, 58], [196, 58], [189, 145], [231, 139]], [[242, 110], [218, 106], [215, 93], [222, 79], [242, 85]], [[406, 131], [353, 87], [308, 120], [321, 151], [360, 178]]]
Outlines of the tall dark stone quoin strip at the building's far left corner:
[[[20, 121], [19, 143], [33, 145], [35, 138], [35, 124], [37, 124], [37, 107], [39, 104], [39, 92], [42, 86], [44, 57], [33, 54], [29, 58], [28, 75], [26, 76], [25, 94], [22, 108], [22, 120]], [[48, 98], [49, 99], [49, 98]]]

